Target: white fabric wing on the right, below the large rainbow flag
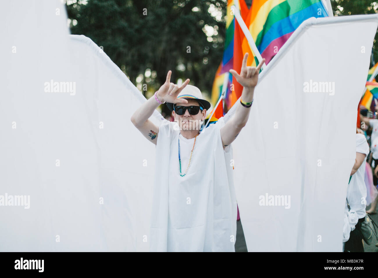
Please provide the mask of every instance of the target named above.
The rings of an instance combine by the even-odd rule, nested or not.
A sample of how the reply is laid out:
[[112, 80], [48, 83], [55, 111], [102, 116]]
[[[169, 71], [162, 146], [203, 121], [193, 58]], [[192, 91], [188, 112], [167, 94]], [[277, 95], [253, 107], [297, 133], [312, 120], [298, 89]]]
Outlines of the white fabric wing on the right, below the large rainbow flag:
[[248, 251], [341, 252], [376, 28], [376, 15], [308, 19], [260, 74], [232, 143]]

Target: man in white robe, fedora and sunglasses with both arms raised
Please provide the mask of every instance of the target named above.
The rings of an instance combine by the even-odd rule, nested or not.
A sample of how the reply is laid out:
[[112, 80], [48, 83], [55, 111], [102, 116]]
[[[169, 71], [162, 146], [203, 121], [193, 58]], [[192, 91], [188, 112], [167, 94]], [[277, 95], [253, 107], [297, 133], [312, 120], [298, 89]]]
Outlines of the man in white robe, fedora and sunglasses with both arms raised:
[[[156, 144], [150, 251], [234, 252], [236, 197], [232, 181], [231, 143], [245, 126], [253, 102], [259, 70], [247, 67], [245, 54], [240, 75], [243, 85], [234, 115], [200, 132], [210, 104], [197, 87], [166, 82], [131, 117], [135, 127]], [[162, 103], [173, 110], [175, 122], [158, 127], [149, 117]], [[248, 146], [245, 146], [248, 148]]]

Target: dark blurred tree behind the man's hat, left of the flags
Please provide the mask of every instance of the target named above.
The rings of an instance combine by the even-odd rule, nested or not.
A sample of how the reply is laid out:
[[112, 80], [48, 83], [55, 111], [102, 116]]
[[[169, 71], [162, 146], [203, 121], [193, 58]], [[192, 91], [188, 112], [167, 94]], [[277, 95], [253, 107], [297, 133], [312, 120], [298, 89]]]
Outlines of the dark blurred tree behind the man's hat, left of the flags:
[[66, 7], [71, 33], [103, 46], [138, 89], [147, 84], [148, 97], [169, 70], [172, 82], [189, 78], [211, 92], [223, 55], [226, 5], [226, 0], [67, 0]]

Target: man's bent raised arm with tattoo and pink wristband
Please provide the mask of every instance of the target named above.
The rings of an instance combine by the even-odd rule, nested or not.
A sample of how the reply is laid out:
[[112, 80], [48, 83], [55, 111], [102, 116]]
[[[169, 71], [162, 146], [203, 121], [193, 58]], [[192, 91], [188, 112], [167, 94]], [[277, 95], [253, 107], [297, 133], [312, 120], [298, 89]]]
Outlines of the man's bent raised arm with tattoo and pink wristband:
[[[172, 71], [168, 71], [166, 82], [156, 93], [157, 98], [161, 102], [167, 101], [169, 103], [187, 103], [186, 99], [177, 98], [177, 95], [189, 83], [189, 79], [186, 79], [186, 81], [180, 87], [178, 87], [174, 83], [170, 82], [171, 74]], [[143, 134], [143, 136], [155, 145], [159, 134], [159, 127], [153, 124], [149, 118], [159, 105], [160, 104], [155, 99], [155, 95], [153, 95], [138, 109], [136, 109], [130, 119], [134, 126]]]

